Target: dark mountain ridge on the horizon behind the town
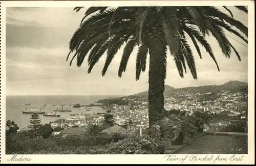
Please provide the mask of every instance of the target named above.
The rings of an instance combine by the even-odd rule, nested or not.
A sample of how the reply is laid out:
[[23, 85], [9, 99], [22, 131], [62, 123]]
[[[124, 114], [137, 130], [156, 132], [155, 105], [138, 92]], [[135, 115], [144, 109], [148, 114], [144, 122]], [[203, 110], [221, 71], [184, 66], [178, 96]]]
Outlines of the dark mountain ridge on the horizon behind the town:
[[[229, 91], [229, 92], [246, 92], [248, 89], [248, 84], [245, 82], [232, 80], [228, 81], [223, 85], [211, 85], [211, 86], [200, 86], [200, 87], [185, 87], [185, 88], [173, 88], [168, 85], [165, 85], [164, 96], [169, 97], [174, 94], [195, 94], [195, 93], [218, 93], [222, 90]], [[138, 97], [147, 97], [147, 91], [137, 93], [132, 96]]]

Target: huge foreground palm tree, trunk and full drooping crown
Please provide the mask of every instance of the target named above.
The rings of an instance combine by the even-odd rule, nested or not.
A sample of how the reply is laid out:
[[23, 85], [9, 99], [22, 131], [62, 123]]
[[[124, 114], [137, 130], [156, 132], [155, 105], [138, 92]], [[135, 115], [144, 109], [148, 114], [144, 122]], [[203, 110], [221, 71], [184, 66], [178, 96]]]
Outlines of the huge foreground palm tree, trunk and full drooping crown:
[[[74, 10], [79, 11], [82, 8], [76, 7]], [[102, 76], [104, 76], [115, 54], [125, 43], [118, 70], [118, 76], [121, 77], [122, 72], [126, 70], [132, 51], [138, 46], [136, 59], [136, 80], [138, 80], [140, 73], [146, 69], [146, 58], [149, 53], [148, 118], [151, 127], [163, 118], [167, 47], [174, 58], [180, 77], [184, 76], [188, 67], [193, 78], [197, 79], [194, 55], [187, 43], [187, 38], [193, 41], [200, 58], [202, 54], [198, 43], [205, 48], [219, 71], [215, 55], [205, 39], [206, 35], [217, 39], [227, 58], [230, 58], [231, 49], [233, 49], [241, 61], [238, 51], [229, 42], [224, 30], [247, 43], [248, 28], [232, 17], [227, 7], [224, 8], [230, 12], [231, 16], [211, 6], [117, 7], [114, 9], [91, 7], [86, 11], [79, 28], [70, 40], [67, 61], [70, 54], [75, 52], [70, 65], [76, 57], [76, 64], [80, 67], [88, 55], [88, 73], [91, 73], [94, 65], [106, 51], [107, 57], [102, 69]], [[244, 6], [236, 6], [236, 8], [247, 13], [247, 8]]]

